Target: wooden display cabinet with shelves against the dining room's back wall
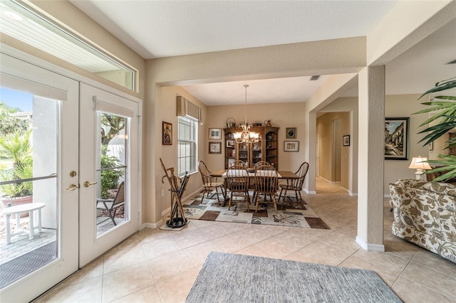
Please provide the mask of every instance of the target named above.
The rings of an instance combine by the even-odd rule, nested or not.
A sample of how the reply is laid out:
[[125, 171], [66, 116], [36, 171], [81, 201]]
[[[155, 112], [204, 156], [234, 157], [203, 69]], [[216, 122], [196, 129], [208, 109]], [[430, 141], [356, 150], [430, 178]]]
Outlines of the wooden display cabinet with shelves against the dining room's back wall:
[[252, 144], [236, 143], [234, 132], [239, 132], [239, 127], [229, 127], [224, 130], [225, 156], [224, 167], [227, 169], [234, 160], [242, 160], [253, 167], [258, 161], [268, 161], [269, 164], [279, 169], [279, 127], [251, 127], [251, 132], [258, 132], [260, 141]]

